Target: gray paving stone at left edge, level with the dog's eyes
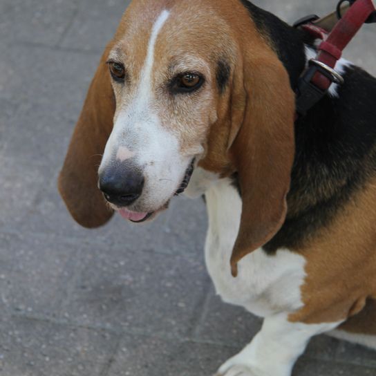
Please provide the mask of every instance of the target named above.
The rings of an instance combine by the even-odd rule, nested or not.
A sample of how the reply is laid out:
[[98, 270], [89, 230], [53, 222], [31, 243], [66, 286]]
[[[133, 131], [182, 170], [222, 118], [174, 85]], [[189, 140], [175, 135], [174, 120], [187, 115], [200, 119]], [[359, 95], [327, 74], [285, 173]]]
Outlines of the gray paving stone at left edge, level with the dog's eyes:
[[[28, 59], [19, 60], [19, 54]], [[19, 110], [8, 120], [4, 153], [60, 167], [98, 60], [48, 48], [12, 48], [1, 59], [0, 72], [8, 73], [0, 73], [0, 93], [17, 97]]]

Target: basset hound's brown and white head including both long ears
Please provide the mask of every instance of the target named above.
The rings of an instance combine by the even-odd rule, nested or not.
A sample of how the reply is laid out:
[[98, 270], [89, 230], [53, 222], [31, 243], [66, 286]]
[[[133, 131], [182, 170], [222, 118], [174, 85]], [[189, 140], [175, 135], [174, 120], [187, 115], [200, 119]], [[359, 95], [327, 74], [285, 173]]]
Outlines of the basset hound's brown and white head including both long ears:
[[113, 214], [106, 200], [134, 222], [156, 215], [194, 160], [218, 178], [236, 172], [236, 274], [285, 218], [293, 122], [288, 73], [241, 1], [134, 0], [89, 88], [59, 190], [75, 220], [96, 227]]

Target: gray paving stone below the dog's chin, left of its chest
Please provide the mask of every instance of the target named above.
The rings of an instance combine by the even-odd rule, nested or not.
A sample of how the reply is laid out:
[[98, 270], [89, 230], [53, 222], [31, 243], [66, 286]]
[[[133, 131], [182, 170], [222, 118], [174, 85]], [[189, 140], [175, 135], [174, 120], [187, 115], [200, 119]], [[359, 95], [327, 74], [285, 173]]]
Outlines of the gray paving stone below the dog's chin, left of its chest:
[[196, 326], [208, 277], [202, 263], [142, 252], [137, 243], [115, 249], [84, 247], [79, 278], [64, 310], [83, 325], [186, 337]]

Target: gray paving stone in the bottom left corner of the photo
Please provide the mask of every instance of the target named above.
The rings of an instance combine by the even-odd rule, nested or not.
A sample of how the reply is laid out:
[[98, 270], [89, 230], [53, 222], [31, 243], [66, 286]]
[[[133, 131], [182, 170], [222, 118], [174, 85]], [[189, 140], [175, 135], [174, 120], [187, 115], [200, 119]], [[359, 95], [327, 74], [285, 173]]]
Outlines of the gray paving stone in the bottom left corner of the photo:
[[0, 330], [0, 375], [100, 376], [117, 346], [105, 330], [13, 317]]

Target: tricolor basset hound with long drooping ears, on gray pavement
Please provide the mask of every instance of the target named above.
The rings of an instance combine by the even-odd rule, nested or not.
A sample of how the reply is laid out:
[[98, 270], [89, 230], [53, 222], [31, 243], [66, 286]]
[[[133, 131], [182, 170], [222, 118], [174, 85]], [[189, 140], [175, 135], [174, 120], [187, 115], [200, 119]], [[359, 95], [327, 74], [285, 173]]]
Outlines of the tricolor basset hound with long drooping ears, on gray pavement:
[[376, 348], [376, 79], [341, 59], [295, 121], [316, 45], [246, 0], [133, 0], [59, 176], [84, 227], [205, 195], [216, 292], [265, 318], [220, 376], [289, 376], [323, 332]]

